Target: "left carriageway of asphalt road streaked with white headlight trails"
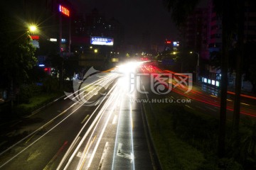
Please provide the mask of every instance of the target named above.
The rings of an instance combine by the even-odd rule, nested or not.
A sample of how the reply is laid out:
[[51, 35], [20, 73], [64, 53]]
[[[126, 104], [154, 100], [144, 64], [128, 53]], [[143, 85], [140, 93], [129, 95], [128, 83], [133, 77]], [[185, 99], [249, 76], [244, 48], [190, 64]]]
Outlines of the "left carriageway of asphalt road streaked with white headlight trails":
[[[0, 169], [157, 169], [142, 107], [129, 102], [115, 75], [100, 75], [101, 86], [81, 93], [86, 101], [66, 98], [2, 124]], [[104, 84], [103, 99], [88, 106]]]

